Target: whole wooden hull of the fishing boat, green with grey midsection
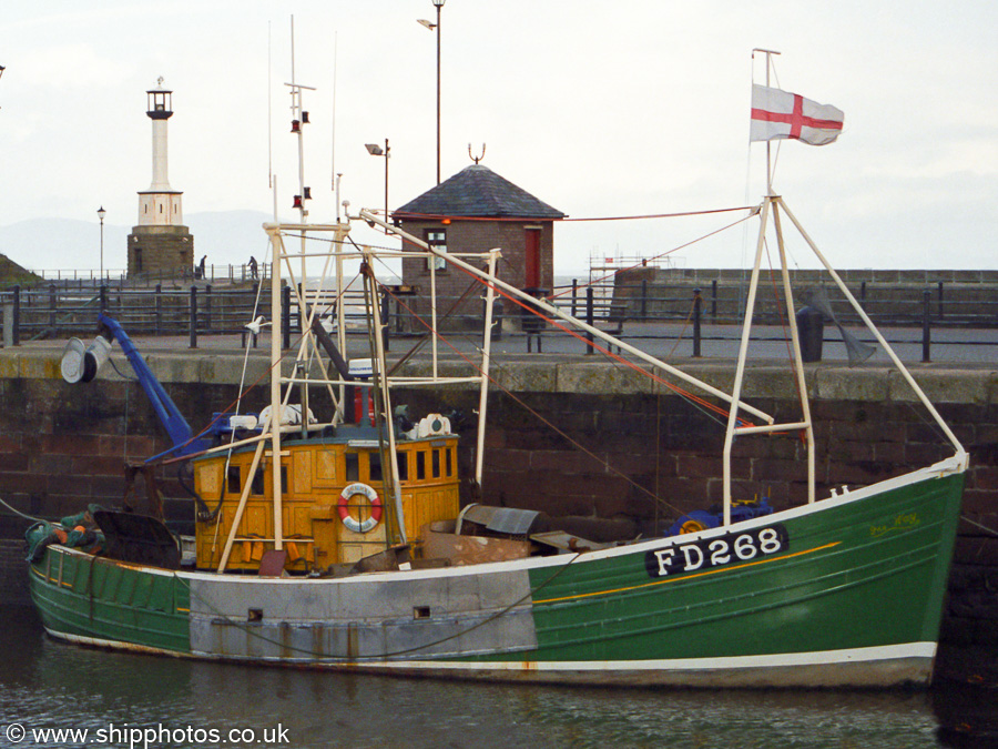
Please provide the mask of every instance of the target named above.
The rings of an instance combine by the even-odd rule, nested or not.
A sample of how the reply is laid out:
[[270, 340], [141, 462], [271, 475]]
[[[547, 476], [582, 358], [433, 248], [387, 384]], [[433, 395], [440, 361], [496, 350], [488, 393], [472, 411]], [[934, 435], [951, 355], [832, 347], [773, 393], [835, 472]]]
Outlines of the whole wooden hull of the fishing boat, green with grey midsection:
[[727, 529], [337, 579], [174, 574], [50, 547], [31, 590], [53, 635], [203, 658], [554, 682], [926, 682], [964, 482], [944, 468]]

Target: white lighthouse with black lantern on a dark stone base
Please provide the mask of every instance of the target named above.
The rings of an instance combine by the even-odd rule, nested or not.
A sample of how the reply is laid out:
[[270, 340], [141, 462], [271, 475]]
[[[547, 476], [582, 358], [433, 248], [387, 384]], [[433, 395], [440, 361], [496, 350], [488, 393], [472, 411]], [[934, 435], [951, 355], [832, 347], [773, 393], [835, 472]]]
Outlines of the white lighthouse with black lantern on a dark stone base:
[[186, 275], [194, 267], [194, 237], [184, 226], [183, 193], [170, 186], [166, 160], [166, 123], [173, 117], [173, 91], [145, 92], [146, 115], [152, 120], [152, 183], [139, 193], [139, 222], [129, 234], [129, 277]]

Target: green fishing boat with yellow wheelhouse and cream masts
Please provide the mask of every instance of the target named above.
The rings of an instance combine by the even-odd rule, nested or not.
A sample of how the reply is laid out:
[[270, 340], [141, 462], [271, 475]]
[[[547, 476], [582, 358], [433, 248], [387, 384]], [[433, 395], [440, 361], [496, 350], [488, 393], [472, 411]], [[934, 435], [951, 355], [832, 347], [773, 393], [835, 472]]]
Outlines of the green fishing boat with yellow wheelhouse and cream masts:
[[[499, 251], [442, 252], [366, 210], [330, 224], [265, 225], [273, 252], [269, 408], [231, 419], [213, 445], [175, 438], [167, 457], [191, 462], [201, 498], [193, 538], [176, 537], [152, 515], [101, 508], [67, 527], [34, 528], [28, 573], [45, 630], [71, 642], [207, 660], [560, 685], [928, 684], [968, 455], [783, 198], [771, 190], [754, 213], [760, 233], [730, 392], [503, 283], [495, 272]], [[818, 495], [784, 216], [946, 435], [950, 457]], [[802, 404], [788, 423], [742, 397], [771, 220]], [[457, 375], [438, 371], [436, 360], [426, 376], [389, 372], [375, 269], [378, 257], [401, 253], [352, 244], [352, 221], [395, 233], [407, 253], [480, 282], [486, 304], [473, 365]], [[301, 237], [298, 251], [287, 246], [289, 236]], [[322, 252], [306, 250], [319, 236]], [[320, 301], [294, 281], [298, 260], [304, 275], [304, 259], [318, 254], [340, 282], [344, 263], [360, 260], [370, 341], [363, 360], [343, 355], [349, 321], [340, 292]], [[282, 365], [284, 279], [303, 338]], [[542, 527], [537, 512], [489, 505], [481, 482], [497, 295], [603, 342], [594, 346], [619, 346], [659, 382], [700, 388], [726, 408], [723, 506], [714, 522], [679, 518], [675, 534], [597, 544]], [[106, 336], [123, 337], [114, 330]], [[67, 366], [77, 378], [92, 377], [91, 360], [109, 347], [106, 337], [96, 353], [75, 345]], [[480, 498], [464, 507], [456, 427], [444, 413], [397, 407], [399, 388], [438, 387], [478, 388], [471, 478]], [[333, 404], [326, 418], [313, 413], [322, 401], [309, 396], [314, 388]], [[733, 443], [776, 433], [806, 444], [806, 486], [792, 507], [757, 503], [745, 512], [732, 498]]]

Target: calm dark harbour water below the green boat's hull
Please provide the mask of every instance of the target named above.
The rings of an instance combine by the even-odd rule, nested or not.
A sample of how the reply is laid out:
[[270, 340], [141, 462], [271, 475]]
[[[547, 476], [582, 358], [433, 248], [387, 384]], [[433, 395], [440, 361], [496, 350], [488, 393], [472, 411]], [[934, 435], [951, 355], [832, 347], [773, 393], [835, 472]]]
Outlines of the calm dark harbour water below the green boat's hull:
[[[688, 691], [261, 669], [64, 645], [14, 607], [0, 607], [0, 654], [3, 747], [998, 746], [987, 679], [928, 692]], [[89, 732], [45, 741], [44, 729]], [[146, 731], [157, 732], [147, 745]]]

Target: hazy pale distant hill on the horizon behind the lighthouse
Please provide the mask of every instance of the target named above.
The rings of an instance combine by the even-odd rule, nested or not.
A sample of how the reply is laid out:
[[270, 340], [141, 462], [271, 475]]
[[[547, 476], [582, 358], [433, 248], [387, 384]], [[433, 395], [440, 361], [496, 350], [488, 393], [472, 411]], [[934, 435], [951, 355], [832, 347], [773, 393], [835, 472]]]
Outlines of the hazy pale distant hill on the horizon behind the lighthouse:
[[[191, 213], [186, 225], [194, 236], [194, 262], [240, 265], [249, 255], [259, 260], [267, 250], [261, 229], [272, 216], [262, 211]], [[119, 273], [128, 265], [132, 226], [104, 223], [104, 269]], [[74, 219], [31, 219], [0, 226], [0, 254], [31, 271], [96, 271], [101, 265], [100, 224]], [[0, 274], [2, 277], [2, 274]]]

